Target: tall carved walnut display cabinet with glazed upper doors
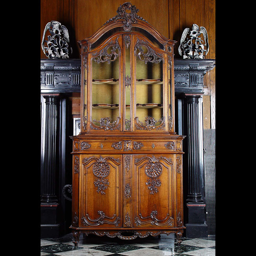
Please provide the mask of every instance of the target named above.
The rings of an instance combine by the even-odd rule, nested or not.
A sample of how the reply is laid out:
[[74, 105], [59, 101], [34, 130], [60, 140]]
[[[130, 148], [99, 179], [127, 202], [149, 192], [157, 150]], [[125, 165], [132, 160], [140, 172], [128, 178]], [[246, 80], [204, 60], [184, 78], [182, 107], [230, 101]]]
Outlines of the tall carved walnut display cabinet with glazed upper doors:
[[72, 225], [136, 237], [184, 230], [182, 140], [174, 132], [173, 48], [124, 3], [81, 46], [81, 132], [73, 140]]

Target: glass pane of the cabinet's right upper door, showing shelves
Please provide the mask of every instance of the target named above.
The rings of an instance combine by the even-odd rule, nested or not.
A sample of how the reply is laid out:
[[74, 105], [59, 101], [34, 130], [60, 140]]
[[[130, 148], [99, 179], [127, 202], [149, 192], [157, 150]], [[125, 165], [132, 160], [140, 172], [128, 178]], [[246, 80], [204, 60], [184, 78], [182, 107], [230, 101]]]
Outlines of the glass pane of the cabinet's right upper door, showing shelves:
[[147, 120], [158, 126], [163, 120], [163, 61], [149, 51], [149, 46], [135, 48], [136, 117], [142, 126]]

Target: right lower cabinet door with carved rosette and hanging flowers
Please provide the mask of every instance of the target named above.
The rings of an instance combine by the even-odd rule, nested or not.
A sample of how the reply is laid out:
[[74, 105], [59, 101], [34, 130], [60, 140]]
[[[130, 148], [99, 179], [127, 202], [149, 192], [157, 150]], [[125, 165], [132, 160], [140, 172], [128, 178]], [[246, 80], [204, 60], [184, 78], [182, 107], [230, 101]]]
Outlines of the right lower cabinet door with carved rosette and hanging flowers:
[[174, 223], [173, 155], [134, 155], [136, 227], [172, 227]]

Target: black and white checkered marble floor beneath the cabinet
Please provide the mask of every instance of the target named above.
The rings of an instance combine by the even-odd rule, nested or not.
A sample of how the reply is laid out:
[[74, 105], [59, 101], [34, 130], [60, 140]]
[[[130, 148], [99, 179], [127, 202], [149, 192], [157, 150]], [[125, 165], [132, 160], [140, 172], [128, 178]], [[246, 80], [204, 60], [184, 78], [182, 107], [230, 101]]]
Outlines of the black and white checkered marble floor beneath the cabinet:
[[124, 241], [119, 238], [80, 234], [78, 246], [72, 243], [72, 233], [60, 238], [42, 238], [41, 255], [47, 256], [215, 256], [215, 238], [181, 238], [176, 243], [174, 234], [161, 237], [136, 238]]

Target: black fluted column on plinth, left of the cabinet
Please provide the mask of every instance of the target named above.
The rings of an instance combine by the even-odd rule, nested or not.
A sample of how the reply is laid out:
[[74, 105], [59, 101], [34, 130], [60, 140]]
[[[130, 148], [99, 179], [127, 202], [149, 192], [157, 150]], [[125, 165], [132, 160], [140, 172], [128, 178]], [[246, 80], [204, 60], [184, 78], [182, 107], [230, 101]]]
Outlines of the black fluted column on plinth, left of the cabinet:
[[58, 223], [60, 203], [56, 195], [59, 183], [60, 95], [43, 95], [44, 122], [41, 156], [41, 238], [58, 237], [62, 228]]

